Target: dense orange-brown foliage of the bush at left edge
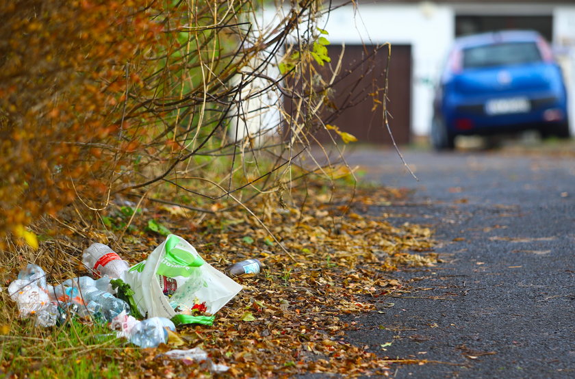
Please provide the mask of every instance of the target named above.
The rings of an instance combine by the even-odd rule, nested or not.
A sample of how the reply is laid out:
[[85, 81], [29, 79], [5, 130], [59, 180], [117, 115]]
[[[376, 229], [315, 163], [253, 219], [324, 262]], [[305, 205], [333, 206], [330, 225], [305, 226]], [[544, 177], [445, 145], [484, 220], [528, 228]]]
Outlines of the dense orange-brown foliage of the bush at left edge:
[[140, 133], [123, 119], [127, 79], [160, 41], [147, 3], [0, 3], [0, 235], [77, 196], [105, 201]]

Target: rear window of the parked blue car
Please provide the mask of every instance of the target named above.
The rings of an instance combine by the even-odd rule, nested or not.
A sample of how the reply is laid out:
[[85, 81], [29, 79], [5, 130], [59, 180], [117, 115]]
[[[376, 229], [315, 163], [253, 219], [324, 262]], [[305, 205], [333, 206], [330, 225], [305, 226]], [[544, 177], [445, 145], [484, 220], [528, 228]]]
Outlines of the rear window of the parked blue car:
[[463, 68], [541, 62], [535, 42], [505, 42], [463, 50]]

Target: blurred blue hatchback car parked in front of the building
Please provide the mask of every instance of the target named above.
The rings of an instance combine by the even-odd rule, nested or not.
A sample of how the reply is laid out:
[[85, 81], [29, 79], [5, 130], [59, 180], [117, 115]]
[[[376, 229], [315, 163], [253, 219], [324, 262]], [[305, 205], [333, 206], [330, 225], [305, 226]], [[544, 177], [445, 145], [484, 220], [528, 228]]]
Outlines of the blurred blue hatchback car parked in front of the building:
[[567, 93], [549, 44], [535, 31], [507, 30], [455, 40], [433, 104], [431, 142], [457, 135], [536, 129], [569, 138]]

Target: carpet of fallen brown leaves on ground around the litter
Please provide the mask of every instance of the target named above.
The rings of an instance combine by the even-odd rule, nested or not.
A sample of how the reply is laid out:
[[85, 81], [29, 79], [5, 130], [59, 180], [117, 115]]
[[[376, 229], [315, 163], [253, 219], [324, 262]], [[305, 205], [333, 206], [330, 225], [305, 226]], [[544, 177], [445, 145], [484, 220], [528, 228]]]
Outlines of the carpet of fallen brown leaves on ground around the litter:
[[[156, 231], [149, 227], [154, 224], [162, 225], [162, 231], [165, 228], [190, 241], [219, 270], [225, 270], [231, 263], [256, 258], [264, 265], [262, 272], [234, 278], [243, 291], [218, 312], [213, 326], [184, 326], [168, 344], [157, 349], [141, 350], [118, 341], [104, 346], [101, 342], [86, 345], [77, 341], [69, 343], [68, 350], [63, 350], [57, 358], [47, 357], [45, 353], [42, 355], [40, 346], [44, 350], [48, 345], [60, 349], [61, 346], [53, 342], [57, 338], [55, 332], [40, 330], [38, 338], [43, 344], [36, 350], [28, 347], [29, 352], [34, 353], [18, 358], [27, 361], [26, 365], [14, 365], [14, 356], [23, 344], [18, 335], [34, 336], [38, 330], [28, 326], [5, 332], [3, 328], [0, 338], [6, 350], [0, 371], [8, 376], [10, 373], [34, 376], [40, 365], [44, 367], [44, 374], [57, 373], [56, 368], [42, 360], [79, 362], [89, 358], [90, 362], [112, 364], [113, 371], [122, 376], [212, 376], [201, 363], [184, 363], [162, 355], [174, 349], [201, 348], [213, 363], [229, 367], [225, 374], [219, 375], [387, 376], [389, 364], [397, 360], [346, 342], [345, 332], [352, 326], [342, 315], [376, 311], [375, 303], [381, 298], [406, 292], [391, 274], [398, 265], [427, 266], [436, 262], [435, 255], [429, 253], [433, 247], [429, 228], [408, 223], [393, 225], [385, 220], [385, 215], [374, 217], [365, 213], [372, 205], [389, 204], [405, 196], [407, 192], [397, 189], [357, 189], [353, 202], [346, 202], [327, 196], [322, 187], [312, 185], [307, 189], [307, 196], [292, 194], [294, 203], [299, 200], [303, 207], [280, 207], [265, 198], [251, 205], [252, 209], [258, 209], [255, 213], [290, 251], [292, 258], [277, 244], [270, 243], [267, 231], [241, 209], [216, 212], [196, 224], [189, 221], [188, 211], [155, 207], [148, 202], [145, 207], [153, 212], [154, 221], [146, 220], [146, 212], [138, 213], [138, 218], [133, 219], [135, 227], [118, 241], [118, 252], [124, 259], [137, 263], [162, 241], [163, 233], [157, 233], [160, 228]], [[92, 241], [106, 242], [110, 237], [108, 231], [80, 226], [73, 229]], [[70, 233], [68, 242], [53, 241], [47, 246], [62, 249], [73, 246], [74, 237], [78, 237], [75, 234]], [[69, 259], [78, 257], [78, 251], [68, 256]], [[42, 263], [42, 259], [38, 261]], [[23, 262], [16, 266], [18, 264]], [[84, 274], [79, 272], [80, 267], [75, 263], [71, 270], [76, 275]], [[58, 279], [56, 272], [49, 275]], [[6, 285], [11, 279], [9, 276], [3, 277]], [[63, 278], [64, 274], [60, 276]], [[14, 307], [5, 291], [1, 296], [3, 308]], [[0, 324], [25, 323], [16, 319], [16, 313], [12, 316], [5, 313]], [[73, 332], [69, 328], [57, 330], [57, 333]]]

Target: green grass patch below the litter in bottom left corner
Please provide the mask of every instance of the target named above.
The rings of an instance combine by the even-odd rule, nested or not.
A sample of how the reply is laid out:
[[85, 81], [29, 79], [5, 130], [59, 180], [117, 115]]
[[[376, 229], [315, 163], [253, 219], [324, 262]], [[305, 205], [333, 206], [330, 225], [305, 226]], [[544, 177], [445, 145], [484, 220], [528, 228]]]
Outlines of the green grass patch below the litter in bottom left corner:
[[[5, 292], [3, 309], [15, 304]], [[10, 308], [8, 308], [10, 309]], [[140, 358], [138, 348], [127, 348], [125, 339], [100, 324], [81, 324], [77, 320], [63, 326], [42, 328], [34, 319], [14, 317], [0, 325], [0, 375], [27, 378], [118, 378]]]

